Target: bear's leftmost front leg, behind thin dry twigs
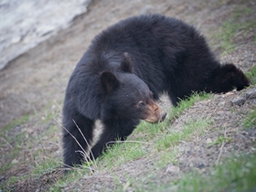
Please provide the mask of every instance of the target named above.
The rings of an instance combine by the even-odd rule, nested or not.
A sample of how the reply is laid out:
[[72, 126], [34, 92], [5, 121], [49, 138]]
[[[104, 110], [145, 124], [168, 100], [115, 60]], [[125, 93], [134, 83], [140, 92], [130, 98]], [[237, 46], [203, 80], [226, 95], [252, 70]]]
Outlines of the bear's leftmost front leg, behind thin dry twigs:
[[[75, 123], [74, 123], [75, 122]], [[73, 120], [69, 119], [63, 123], [63, 126], [69, 133], [63, 129], [63, 157], [66, 167], [81, 165], [84, 160], [84, 152], [87, 152], [88, 144], [91, 144], [94, 121], [82, 116], [76, 115]], [[80, 128], [80, 131], [78, 129]], [[70, 135], [72, 134], [76, 140]], [[87, 141], [84, 140], [84, 137]]]

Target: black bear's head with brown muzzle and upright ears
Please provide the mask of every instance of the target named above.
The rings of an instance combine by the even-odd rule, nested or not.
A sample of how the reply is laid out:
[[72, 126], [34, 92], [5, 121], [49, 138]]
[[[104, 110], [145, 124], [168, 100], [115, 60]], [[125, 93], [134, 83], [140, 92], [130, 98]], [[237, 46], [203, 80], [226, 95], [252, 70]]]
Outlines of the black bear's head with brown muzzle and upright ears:
[[133, 73], [133, 62], [128, 53], [124, 53], [117, 72], [101, 72], [101, 90], [107, 106], [103, 108], [107, 111], [101, 112], [104, 117], [141, 119], [149, 123], [165, 120], [166, 113], [153, 100], [152, 91]]

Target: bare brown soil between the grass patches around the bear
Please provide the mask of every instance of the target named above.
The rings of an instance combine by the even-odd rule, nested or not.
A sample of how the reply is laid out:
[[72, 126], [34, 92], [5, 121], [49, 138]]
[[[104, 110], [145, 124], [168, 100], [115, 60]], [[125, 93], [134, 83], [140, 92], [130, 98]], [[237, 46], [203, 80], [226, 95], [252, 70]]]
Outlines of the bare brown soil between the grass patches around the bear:
[[[91, 39], [95, 37], [102, 29], [111, 26], [120, 19], [137, 16], [140, 14], [158, 13], [165, 16], [175, 16], [185, 22], [197, 27], [201, 33], [207, 37], [213, 51], [217, 56], [222, 53], [219, 42], [216, 42], [214, 36], [219, 33], [225, 21], [233, 16], [237, 10], [245, 10], [248, 7], [256, 5], [254, 1], [239, 0], [94, 0], [89, 6], [89, 11], [74, 19], [71, 27], [62, 30], [55, 37], [49, 38], [41, 43], [37, 48], [29, 50], [26, 54], [13, 60], [8, 66], [0, 71], [0, 129], [1, 131], [8, 123], [19, 119], [25, 114], [40, 115], [32, 119], [29, 123], [17, 124], [12, 128], [10, 136], [16, 138], [16, 133], [26, 133], [27, 140], [36, 137], [38, 134], [48, 130], [55, 121], [48, 121], [46, 124], [38, 123], [46, 118], [46, 111], [57, 111], [57, 119], [60, 121], [62, 101], [64, 99], [65, 89], [69, 76], [75, 65], [81, 58], [82, 54], [89, 47]], [[241, 11], [242, 12], [242, 11]], [[256, 18], [256, 11], [251, 13], [251, 17]], [[247, 15], [241, 14], [240, 21], [247, 21]], [[245, 29], [244, 29], [245, 30]], [[240, 69], [246, 71], [256, 65], [256, 45], [253, 34], [254, 28], [247, 28], [237, 32], [234, 37], [235, 50], [219, 59], [222, 62], [235, 63]], [[255, 88], [254, 88], [255, 89]], [[187, 172], [191, 167], [197, 167], [204, 171], [208, 166], [218, 164], [219, 161], [230, 153], [255, 152], [256, 127], [250, 130], [244, 130], [242, 123], [252, 109], [256, 107], [255, 98], [245, 99], [242, 104], [232, 104], [231, 101], [237, 98], [246, 98], [246, 92], [253, 91], [253, 87], [245, 91], [231, 91], [227, 94], [216, 95], [208, 101], [199, 101], [186, 112], [183, 112], [180, 118], [176, 119], [172, 128], [181, 129], [180, 123], [190, 119], [207, 118], [214, 119], [215, 123], [204, 136], [193, 138], [189, 142], [179, 144], [179, 162], [178, 171], [173, 165], [168, 165], [163, 170], [155, 171], [155, 179], [162, 179], [168, 182], [173, 177], [178, 177], [179, 172]], [[169, 108], [169, 102], [162, 98], [162, 105]], [[166, 105], [166, 102], [168, 105]], [[225, 144], [216, 144], [208, 147], [208, 144], [216, 141], [219, 135], [228, 136], [231, 142]], [[58, 138], [56, 143], [48, 142], [52, 138]], [[37, 151], [42, 148], [47, 155], [60, 157], [61, 149], [61, 132], [53, 133], [50, 137], [40, 138], [38, 144], [32, 148], [21, 147], [22, 155], [18, 158], [9, 158], [8, 154], [14, 149], [12, 144], [1, 138], [1, 165], [6, 161], [13, 161], [14, 167], [0, 176], [0, 181], [5, 182], [11, 176], [22, 176], [30, 171], [30, 165], [37, 162], [37, 159], [30, 159], [31, 151]], [[3, 146], [3, 147], [2, 147]], [[157, 161], [157, 157], [152, 157], [152, 162]], [[16, 162], [25, 162], [16, 164]], [[128, 165], [123, 165], [116, 170], [116, 174], [123, 176], [123, 172], [130, 176], [144, 176], [148, 174], [150, 162], [140, 159], [133, 161]], [[27, 179], [18, 183], [16, 191], [40, 191], [47, 190], [48, 181], [54, 182], [54, 177], [59, 176], [59, 170], [52, 174], [42, 176], [41, 178]], [[95, 177], [85, 177], [77, 183], [66, 187], [65, 190], [80, 189], [87, 191], [112, 190], [113, 178], [111, 174], [97, 175]], [[125, 185], [125, 179], [123, 185]], [[86, 188], [83, 188], [86, 187]], [[129, 188], [127, 188], [128, 190]], [[133, 188], [129, 189], [133, 191]], [[1, 190], [0, 190], [1, 191]]]

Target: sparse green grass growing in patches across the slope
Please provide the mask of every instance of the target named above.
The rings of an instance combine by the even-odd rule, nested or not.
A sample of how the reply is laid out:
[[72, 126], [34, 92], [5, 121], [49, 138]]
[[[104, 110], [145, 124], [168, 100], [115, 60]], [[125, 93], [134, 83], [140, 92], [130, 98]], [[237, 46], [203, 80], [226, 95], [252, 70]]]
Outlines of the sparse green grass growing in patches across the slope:
[[[219, 27], [219, 35], [214, 38], [219, 42], [219, 47], [222, 49], [223, 54], [227, 54], [233, 51], [236, 46], [236, 40], [243, 34], [248, 34], [253, 31], [256, 27], [254, 18], [248, 17], [246, 21], [241, 21], [240, 16], [246, 15], [250, 16], [254, 6], [249, 8], [240, 8], [234, 11], [233, 16], [230, 19], [226, 19], [223, 25]], [[244, 16], [243, 16], [244, 17]], [[254, 42], [256, 42], [256, 35], [252, 37]], [[216, 43], [217, 44], [217, 43]], [[256, 67], [251, 69], [250, 72], [246, 74], [250, 79], [252, 84], [256, 84]], [[227, 159], [224, 165], [218, 165], [212, 167], [208, 170], [207, 174], [202, 175], [197, 171], [185, 174], [181, 176], [180, 179], [175, 180], [169, 184], [157, 183], [159, 182], [159, 177], [155, 175], [156, 171], [165, 167], [166, 165], [172, 163], [178, 165], [178, 145], [182, 142], [187, 142], [195, 136], [200, 136], [204, 134], [204, 131], [212, 123], [211, 120], [198, 119], [197, 121], [188, 121], [183, 124], [180, 131], [173, 130], [170, 123], [172, 123], [176, 118], [179, 118], [182, 112], [191, 107], [196, 101], [210, 99], [211, 95], [206, 93], [195, 93], [191, 97], [187, 98], [185, 101], [180, 101], [176, 108], [172, 108], [170, 112], [169, 120], [164, 123], [150, 124], [150, 123], [140, 123], [134, 133], [128, 138], [123, 144], [116, 144], [108, 153], [98, 159], [93, 165], [96, 166], [97, 174], [111, 173], [114, 181], [113, 189], [115, 191], [129, 191], [129, 187], [135, 188], [136, 191], [250, 191], [255, 187], [255, 162], [256, 155], [245, 155], [241, 157], [232, 157]], [[54, 105], [51, 103], [50, 105]], [[57, 105], [58, 106], [58, 105]], [[48, 140], [50, 142], [55, 142], [59, 138], [50, 137], [54, 132], [59, 132], [58, 126], [52, 125], [52, 117], [55, 119], [59, 115], [59, 109], [46, 107], [42, 115], [42, 124], [49, 124], [48, 128], [42, 132], [42, 135], [48, 135]], [[255, 123], [256, 112], [251, 111], [245, 120], [244, 126], [247, 128], [253, 128], [256, 126]], [[16, 134], [15, 139], [9, 138], [6, 135], [12, 130], [16, 125], [24, 124], [30, 122], [31, 116], [29, 114], [24, 115], [19, 120], [6, 126], [1, 133], [5, 137], [7, 142], [13, 143], [14, 149], [5, 155], [6, 164], [1, 167], [1, 172], [3, 167], [5, 170], [9, 169], [12, 164], [10, 163], [12, 159], [22, 151], [23, 144], [29, 145], [31, 148], [34, 147], [33, 144], [41, 144], [41, 148], [37, 150], [34, 154], [35, 159], [31, 165], [31, 173], [26, 176], [11, 176], [7, 181], [6, 185], [12, 185], [18, 180], [27, 179], [27, 177], [32, 176], [33, 178], [38, 178], [40, 176], [49, 175], [61, 164], [54, 161], [53, 159], [45, 159], [44, 154], [44, 144], [40, 137], [35, 138], [35, 141], [30, 141], [29, 144], [23, 143], [23, 139], [26, 137], [24, 133]], [[40, 124], [41, 125], [41, 124]], [[54, 134], [53, 134], [54, 135]], [[222, 144], [229, 142], [229, 137], [219, 136], [214, 144]], [[36, 141], [38, 140], [38, 141]], [[2, 144], [1, 144], [2, 146]], [[32, 151], [32, 150], [31, 150]], [[56, 159], [56, 158], [55, 158]], [[148, 162], [153, 162], [150, 170], [144, 170], [146, 173], [143, 176], [133, 177], [125, 176], [126, 183], [121, 185], [121, 176], [116, 175], [116, 170], [126, 165], [133, 165], [133, 162], [140, 161], [140, 159], [145, 159]], [[155, 171], [156, 170], [156, 171]], [[102, 174], [102, 175], [103, 175]], [[75, 169], [69, 172], [66, 176], [59, 178], [55, 185], [51, 186], [50, 191], [63, 191], [66, 187], [71, 184], [82, 185], [83, 181], [93, 173], [88, 169], [88, 165], [82, 165], [82, 168]], [[95, 175], [93, 175], [95, 176]], [[97, 176], [97, 175], [96, 175]], [[99, 176], [99, 175], [98, 175]], [[99, 176], [100, 177], [100, 176]], [[152, 179], [155, 178], [156, 180]], [[156, 183], [156, 185], [155, 185]], [[1, 187], [0, 187], [1, 188]], [[0, 189], [1, 191], [1, 189]]]

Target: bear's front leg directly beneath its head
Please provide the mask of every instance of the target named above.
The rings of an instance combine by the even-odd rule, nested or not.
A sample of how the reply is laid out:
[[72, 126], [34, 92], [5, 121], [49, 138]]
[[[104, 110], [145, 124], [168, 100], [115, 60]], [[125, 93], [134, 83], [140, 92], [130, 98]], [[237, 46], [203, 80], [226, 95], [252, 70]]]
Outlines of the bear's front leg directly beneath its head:
[[124, 141], [133, 133], [133, 129], [140, 123], [138, 119], [110, 119], [104, 121], [104, 129], [100, 140], [91, 149], [91, 159], [96, 159], [106, 151], [107, 146], [114, 144], [116, 140]]

